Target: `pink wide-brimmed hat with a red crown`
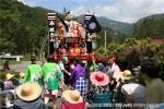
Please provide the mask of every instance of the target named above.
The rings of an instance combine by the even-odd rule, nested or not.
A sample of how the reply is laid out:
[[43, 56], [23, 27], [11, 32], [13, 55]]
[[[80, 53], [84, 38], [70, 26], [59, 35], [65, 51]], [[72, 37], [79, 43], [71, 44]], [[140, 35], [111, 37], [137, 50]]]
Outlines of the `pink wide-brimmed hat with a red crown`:
[[108, 75], [103, 72], [91, 73], [90, 80], [91, 80], [92, 84], [94, 84], [96, 86], [105, 86], [109, 83]]

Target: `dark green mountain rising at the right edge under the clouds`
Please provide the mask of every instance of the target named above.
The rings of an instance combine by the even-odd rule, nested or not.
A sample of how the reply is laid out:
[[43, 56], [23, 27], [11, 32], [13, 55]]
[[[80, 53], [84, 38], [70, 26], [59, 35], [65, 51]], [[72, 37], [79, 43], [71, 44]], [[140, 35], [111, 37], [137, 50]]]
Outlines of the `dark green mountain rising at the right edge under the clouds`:
[[133, 25], [138, 38], [164, 37], [164, 13], [143, 17]]

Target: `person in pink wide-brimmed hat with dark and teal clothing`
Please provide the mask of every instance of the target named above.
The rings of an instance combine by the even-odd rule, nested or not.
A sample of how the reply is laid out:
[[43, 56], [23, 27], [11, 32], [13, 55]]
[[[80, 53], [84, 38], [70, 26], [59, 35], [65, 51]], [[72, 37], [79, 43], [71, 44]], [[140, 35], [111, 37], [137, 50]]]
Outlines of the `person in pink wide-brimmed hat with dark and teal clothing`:
[[[112, 102], [112, 92], [109, 90], [108, 75], [103, 72], [93, 72], [90, 76], [90, 80], [92, 85], [87, 93], [87, 101], [91, 104]], [[108, 107], [103, 109], [108, 109]]]

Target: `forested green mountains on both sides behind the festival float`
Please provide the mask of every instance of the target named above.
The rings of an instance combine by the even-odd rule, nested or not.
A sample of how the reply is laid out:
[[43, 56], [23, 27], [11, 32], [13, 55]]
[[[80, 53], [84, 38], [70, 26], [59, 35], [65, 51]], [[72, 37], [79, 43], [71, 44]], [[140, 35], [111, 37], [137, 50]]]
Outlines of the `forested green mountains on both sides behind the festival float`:
[[[17, 0], [0, 0], [0, 52], [38, 53], [47, 34], [47, 12], [49, 10], [31, 8]], [[102, 26], [98, 47], [104, 46], [105, 31], [108, 45], [122, 43], [127, 37], [164, 37], [164, 14], [151, 15], [134, 24], [106, 17], [97, 17], [97, 21]]]

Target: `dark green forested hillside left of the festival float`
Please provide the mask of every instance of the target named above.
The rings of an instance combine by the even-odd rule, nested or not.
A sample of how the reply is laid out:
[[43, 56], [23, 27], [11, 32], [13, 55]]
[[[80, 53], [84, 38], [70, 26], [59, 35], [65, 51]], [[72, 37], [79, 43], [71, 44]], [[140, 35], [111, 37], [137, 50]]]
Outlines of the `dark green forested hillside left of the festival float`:
[[0, 0], [0, 52], [38, 52], [45, 36], [47, 12], [16, 0]]

